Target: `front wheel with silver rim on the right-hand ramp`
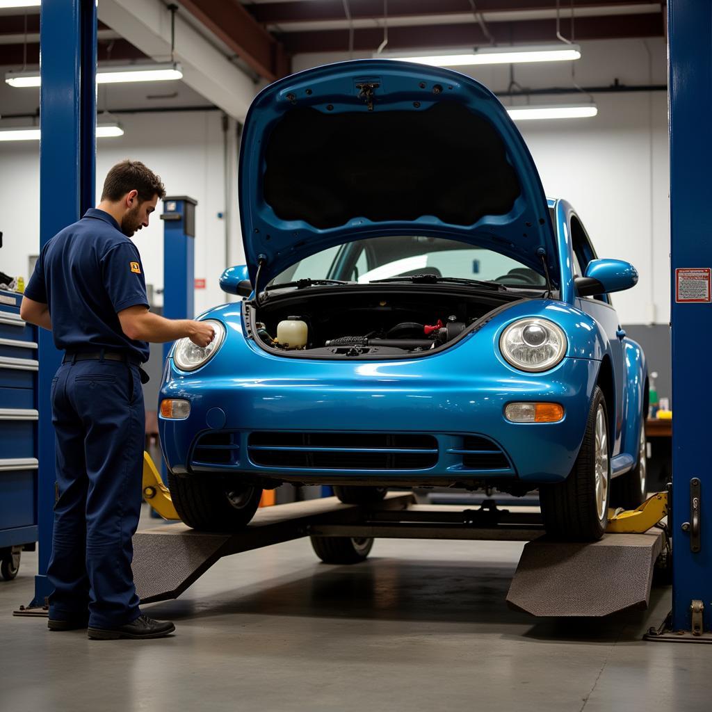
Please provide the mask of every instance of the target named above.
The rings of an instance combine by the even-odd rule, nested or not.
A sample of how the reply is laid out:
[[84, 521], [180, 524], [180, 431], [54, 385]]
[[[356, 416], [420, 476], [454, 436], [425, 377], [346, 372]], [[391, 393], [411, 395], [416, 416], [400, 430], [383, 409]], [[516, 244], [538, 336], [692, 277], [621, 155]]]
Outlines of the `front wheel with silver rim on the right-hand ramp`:
[[610, 481], [606, 399], [595, 387], [586, 432], [569, 476], [539, 488], [546, 532], [567, 540], [600, 539], [608, 522]]

